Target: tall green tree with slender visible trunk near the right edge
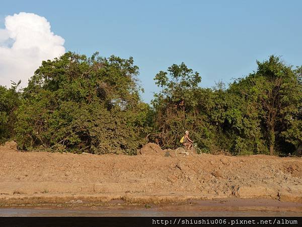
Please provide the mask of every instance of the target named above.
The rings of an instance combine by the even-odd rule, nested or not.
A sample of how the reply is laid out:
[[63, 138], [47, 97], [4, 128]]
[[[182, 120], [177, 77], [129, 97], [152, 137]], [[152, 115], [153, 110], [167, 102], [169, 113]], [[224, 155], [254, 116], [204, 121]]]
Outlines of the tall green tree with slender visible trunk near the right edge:
[[285, 65], [274, 55], [268, 61], [257, 61], [257, 65], [255, 73], [236, 83], [241, 96], [245, 97], [249, 105], [255, 106], [253, 112], [257, 112], [261, 120], [257, 125], [263, 125], [269, 153], [273, 155], [276, 138], [280, 139], [282, 135], [286, 137], [286, 132], [293, 132], [295, 128], [295, 142], [288, 136], [287, 141], [297, 143], [301, 133], [298, 127], [290, 123], [291, 119], [297, 120], [301, 106], [301, 84], [292, 67]]

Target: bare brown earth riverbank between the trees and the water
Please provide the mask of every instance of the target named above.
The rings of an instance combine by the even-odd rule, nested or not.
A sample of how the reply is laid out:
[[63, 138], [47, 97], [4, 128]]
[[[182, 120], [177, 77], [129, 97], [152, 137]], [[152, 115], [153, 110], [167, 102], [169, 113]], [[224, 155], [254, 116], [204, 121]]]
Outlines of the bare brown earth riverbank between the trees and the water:
[[[221, 198], [302, 203], [302, 158], [189, 155], [145, 145], [136, 156], [0, 147], [0, 206], [163, 204]], [[170, 155], [169, 155], [170, 154]]]

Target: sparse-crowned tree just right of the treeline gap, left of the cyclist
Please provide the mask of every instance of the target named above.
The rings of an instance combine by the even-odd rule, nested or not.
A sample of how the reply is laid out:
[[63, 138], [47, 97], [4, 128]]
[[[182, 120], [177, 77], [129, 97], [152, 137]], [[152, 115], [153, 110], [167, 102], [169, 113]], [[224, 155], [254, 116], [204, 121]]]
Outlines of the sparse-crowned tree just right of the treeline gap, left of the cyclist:
[[182, 63], [172, 65], [167, 72], [160, 71], [155, 81], [162, 88], [152, 101], [156, 111], [156, 137], [164, 147], [176, 147], [185, 130], [202, 127], [201, 119], [195, 115], [198, 104], [195, 97], [201, 77]]

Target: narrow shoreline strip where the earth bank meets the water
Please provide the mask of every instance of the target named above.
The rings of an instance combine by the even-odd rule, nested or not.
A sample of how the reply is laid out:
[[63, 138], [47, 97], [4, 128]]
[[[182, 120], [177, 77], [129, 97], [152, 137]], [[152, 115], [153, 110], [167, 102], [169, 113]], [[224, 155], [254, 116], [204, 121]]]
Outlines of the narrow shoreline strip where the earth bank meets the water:
[[[302, 202], [299, 200], [281, 200], [280, 197], [223, 197], [215, 195], [146, 195], [146, 194], [45, 194], [45, 195], [11, 195], [0, 196], [0, 207], [15, 206], [55, 206], [55, 207], [90, 207], [90, 206], [170, 206], [170, 205], [218, 205], [227, 202], [229, 206], [258, 206], [261, 202], [269, 205], [290, 206], [301, 208]], [[252, 202], [245, 204], [246, 202]], [[260, 202], [260, 203], [258, 203]]]

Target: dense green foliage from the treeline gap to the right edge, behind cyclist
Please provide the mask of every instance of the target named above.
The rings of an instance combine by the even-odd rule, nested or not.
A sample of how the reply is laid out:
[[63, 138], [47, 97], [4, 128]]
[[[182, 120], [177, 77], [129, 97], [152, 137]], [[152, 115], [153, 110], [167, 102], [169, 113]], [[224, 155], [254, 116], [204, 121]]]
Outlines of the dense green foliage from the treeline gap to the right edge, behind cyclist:
[[176, 147], [185, 130], [204, 151], [232, 154], [287, 154], [302, 140], [301, 68], [293, 70], [276, 56], [225, 89], [201, 88], [198, 73], [173, 65], [155, 77], [156, 137]]

